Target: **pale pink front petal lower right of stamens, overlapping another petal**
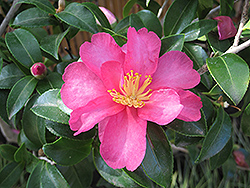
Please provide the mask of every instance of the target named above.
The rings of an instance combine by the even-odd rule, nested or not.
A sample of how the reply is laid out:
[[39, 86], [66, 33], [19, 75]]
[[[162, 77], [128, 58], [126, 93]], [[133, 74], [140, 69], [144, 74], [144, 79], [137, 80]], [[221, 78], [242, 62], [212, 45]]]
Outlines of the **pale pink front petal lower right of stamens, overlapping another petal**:
[[160, 89], [154, 91], [150, 101], [138, 109], [138, 116], [159, 125], [166, 125], [179, 115], [182, 108], [177, 92], [173, 89]]

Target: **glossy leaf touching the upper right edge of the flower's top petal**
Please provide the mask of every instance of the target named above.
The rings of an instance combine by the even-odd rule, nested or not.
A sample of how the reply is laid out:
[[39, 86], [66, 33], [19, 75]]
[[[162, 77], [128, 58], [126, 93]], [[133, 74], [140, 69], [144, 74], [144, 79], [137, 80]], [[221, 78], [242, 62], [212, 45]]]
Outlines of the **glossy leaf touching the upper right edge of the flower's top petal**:
[[154, 13], [149, 10], [142, 10], [136, 14], [141, 18], [142, 23], [149, 31], [155, 32], [161, 38], [162, 26]]

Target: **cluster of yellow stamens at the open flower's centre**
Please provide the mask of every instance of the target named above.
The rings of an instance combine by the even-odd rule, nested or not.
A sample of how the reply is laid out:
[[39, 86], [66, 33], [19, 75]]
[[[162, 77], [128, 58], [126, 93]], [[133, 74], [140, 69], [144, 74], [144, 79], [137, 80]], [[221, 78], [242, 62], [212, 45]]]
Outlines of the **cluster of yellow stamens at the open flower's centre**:
[[109, 94], [113, 97], [113, 101], [135, 108], [142, 108], [145, 106], [144, 101], [149, 100], [152, 95], [152, 93], [149, 94], [152, 89], [144, 92], [146, 87], [152, 82], [152, 77], [150, 75], [145, 77], [146, 80], [139, 88], [141, 75], [138, 73], [134, 74], [134, 71], [131, 70], [130, 73], [124, 76], [124, 84], [122, 87], [120, 84], [121, 93], [117, 92], [115, 89], [108, 90]]

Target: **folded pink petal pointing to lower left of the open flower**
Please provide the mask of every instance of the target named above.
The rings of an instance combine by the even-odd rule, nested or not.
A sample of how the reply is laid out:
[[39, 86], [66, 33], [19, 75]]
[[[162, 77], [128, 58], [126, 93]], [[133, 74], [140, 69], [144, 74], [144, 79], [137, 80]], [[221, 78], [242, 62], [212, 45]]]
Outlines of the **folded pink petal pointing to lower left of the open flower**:
[[86, 106], [74, 110], [70, 114], [69, 125], [74, 136], [90, 130], [108, 116], [119, 113], [124, 109], [123, 105], [115, 103], [110, 96], [104, 96], [90, 101]]

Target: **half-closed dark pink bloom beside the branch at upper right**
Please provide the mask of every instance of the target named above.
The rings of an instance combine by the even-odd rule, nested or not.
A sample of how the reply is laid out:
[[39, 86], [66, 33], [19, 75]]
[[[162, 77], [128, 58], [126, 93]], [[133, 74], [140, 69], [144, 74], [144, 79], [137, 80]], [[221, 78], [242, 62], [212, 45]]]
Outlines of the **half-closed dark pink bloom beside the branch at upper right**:
[[228, 16], [218, 16], [213, 18], [218, 21], [218, 33], [219, 40], [228, 39], [234, 37], [237, 33], [236, 28], [234, 27], [233, 21]]

